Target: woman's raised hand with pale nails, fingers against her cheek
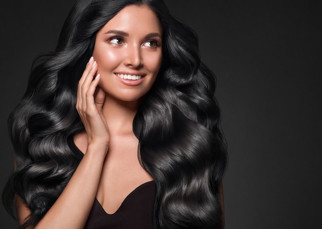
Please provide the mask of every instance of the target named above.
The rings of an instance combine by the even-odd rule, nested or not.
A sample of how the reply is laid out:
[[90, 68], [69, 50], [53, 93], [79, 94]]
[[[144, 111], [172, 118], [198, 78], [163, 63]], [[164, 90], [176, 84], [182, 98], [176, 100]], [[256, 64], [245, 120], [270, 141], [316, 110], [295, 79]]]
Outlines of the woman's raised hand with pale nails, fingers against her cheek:
[[105, 146], [107, 151], [109, 128], [102, 113], [105, 92], [98, 86], [100, 75], [96, 72], [97, 63], [92, 56], [78, 83], [76, 109], [87, 133], [87, 145], [99, 144]]

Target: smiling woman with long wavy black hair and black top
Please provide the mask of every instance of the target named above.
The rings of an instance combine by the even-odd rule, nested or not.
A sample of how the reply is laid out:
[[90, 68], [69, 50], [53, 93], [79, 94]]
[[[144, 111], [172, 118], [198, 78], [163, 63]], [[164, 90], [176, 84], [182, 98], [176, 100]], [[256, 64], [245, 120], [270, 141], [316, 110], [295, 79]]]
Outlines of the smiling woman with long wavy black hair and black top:
[[222, 228], [214, 76], [161, 0], [80, 1], [9, 117], [21, 228]]

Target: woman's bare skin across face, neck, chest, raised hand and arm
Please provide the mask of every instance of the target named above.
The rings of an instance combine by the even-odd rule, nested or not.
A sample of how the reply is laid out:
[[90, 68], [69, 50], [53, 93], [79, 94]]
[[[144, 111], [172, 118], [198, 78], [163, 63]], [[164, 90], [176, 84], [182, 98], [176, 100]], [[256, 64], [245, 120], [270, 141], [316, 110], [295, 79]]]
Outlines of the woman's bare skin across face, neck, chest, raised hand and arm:
[[[95, 198], [113, 214], [139, 185], [153, 180], [138, 159], [132, 124], [162, 62], [162, 27], [147, 6], [128, 6], [101, 28], [79, 81], [77, 111], [85, 131], [74, 136], [84, 153], [58, 200], [34, 228], [83, 228]], [[119, 74], [140, 75], [138, 81]], [[16, 197], [19, 224], [30, 214]]]

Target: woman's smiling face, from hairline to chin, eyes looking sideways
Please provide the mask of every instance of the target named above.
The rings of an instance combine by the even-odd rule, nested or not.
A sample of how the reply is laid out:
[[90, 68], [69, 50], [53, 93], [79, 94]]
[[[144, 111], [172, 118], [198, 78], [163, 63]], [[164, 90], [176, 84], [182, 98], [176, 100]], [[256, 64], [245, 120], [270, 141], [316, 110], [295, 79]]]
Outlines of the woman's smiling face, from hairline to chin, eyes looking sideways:
[[147, 6], [127, 6], [97, 33], [93, 56], [106, 96], [137, 101], [152, 87], [162, 62], [162, 27]]

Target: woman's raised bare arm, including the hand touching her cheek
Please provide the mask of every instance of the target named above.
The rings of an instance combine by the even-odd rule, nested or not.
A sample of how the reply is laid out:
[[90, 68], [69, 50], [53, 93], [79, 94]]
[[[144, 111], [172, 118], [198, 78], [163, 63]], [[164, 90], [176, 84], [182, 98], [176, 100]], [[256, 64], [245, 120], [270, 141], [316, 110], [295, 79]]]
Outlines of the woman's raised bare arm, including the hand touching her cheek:
[[[84, 228], [90, 215], [110, 141], [108, 125], [102, 114], [105, 92], [98, 87], [100, 78], [96, 72], [97, 64], [91, 58], [77, 91], [76, 109], [87, 133], [86, 153], [59, 198], [35, 229]], [[17, 216], [22, 219], [20, 224], [30, 214], [30, 209], [22, 204], [17, 205]]]

